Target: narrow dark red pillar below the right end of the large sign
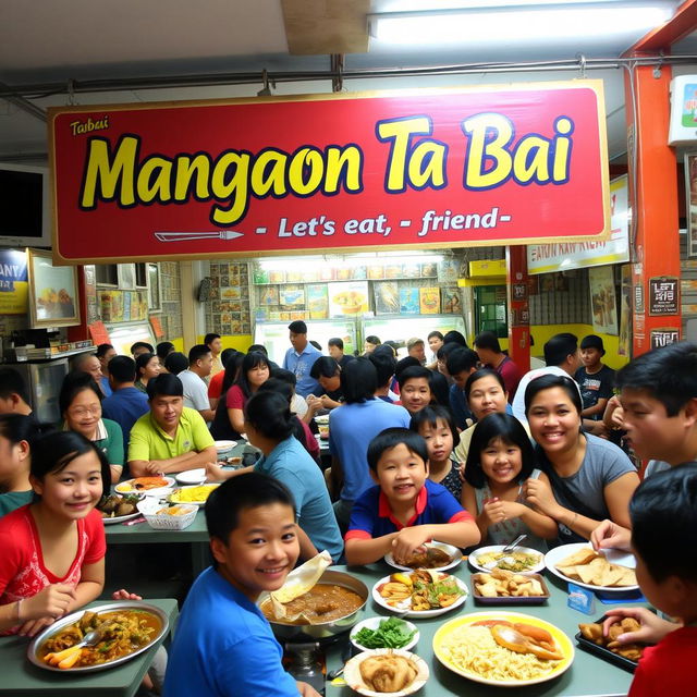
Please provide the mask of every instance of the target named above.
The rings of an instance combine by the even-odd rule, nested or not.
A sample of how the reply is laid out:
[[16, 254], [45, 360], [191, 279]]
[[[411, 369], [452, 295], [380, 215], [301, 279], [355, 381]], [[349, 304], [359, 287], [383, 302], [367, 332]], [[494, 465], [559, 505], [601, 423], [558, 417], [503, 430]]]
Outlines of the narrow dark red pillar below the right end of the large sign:
[[530, 310], [528, 306], [527, 247], [505, 248], [509, 302], [509, 355], [522, 372], [530, 369]]

